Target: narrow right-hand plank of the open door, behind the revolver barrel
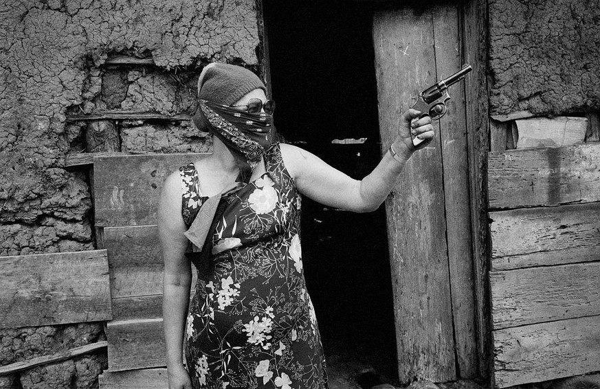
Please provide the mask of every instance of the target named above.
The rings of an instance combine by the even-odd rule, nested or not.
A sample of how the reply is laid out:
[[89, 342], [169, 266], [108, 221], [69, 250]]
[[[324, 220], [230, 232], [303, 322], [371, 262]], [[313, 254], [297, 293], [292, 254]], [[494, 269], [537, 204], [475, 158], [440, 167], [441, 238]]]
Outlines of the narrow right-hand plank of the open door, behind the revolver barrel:
[[[463, 66], [458, 32], [458, 8], [441, 5], [434, 8], [433, 24], [436, 43], [436, 74], [446, 78]], [[467, 76], [468, 77], [468, 76]], [[454, 347], [460, 377], [477, 377], [477, 344], [473, 260], [471, 255], [471, 209], [469, 202], [469, 162], [465, 117], [465, 85], [455, 84], [449, 90], [447, 113], [440, 120], [439, 138], [442, 150], [446, 239], [452, 290]]]

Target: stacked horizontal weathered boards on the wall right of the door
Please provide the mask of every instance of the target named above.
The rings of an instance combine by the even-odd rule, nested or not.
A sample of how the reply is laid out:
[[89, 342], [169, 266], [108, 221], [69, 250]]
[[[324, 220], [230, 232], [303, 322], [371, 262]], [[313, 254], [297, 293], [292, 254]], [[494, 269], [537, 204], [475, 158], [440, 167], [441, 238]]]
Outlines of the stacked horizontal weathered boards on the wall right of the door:
[[489, 155], [498, 388], [600, 366], [599, 146]]

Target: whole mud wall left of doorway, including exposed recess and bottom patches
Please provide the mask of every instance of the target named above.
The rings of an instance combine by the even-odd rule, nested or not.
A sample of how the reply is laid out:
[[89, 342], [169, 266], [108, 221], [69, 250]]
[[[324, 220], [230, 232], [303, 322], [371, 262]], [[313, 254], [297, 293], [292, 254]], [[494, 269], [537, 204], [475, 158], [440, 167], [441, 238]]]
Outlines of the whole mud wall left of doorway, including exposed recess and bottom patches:
[[[93, 250], [89, 168], [71, 152], [199, 152], [176, 120], [79, 120], [105, 110], [190, 113], [213, 61], [260, 69], [255, 0], [0, 0], [0, 255]], [[127, 55], [154, 65], [107, 64]], [[102, 323], [0, 330], [0, 365], [104, 339]], [[2, 388], [93, 388], [106, 353], [0, 377]]]

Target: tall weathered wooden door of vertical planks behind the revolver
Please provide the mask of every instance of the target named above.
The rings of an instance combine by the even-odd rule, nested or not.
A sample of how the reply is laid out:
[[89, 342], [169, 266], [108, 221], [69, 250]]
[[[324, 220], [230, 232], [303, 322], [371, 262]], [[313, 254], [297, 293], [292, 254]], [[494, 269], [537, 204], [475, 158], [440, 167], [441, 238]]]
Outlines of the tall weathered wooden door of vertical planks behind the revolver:
[[[384, 152], [413, 98], [462, 67], [460, 39], [457, 5], [375, 14]], [[436, 138], [412, 156], [386, 202], [403, 382], [478, 374], [464, 91], [449, 89]]]

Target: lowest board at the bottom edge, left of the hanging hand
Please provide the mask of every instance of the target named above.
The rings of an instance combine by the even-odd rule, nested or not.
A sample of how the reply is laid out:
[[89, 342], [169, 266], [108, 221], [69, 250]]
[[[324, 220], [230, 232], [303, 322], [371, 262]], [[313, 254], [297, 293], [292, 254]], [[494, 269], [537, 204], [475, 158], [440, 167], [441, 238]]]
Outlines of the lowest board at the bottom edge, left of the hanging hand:
[[166, 368], [104, 372], [98, 376], [100, 389], [168, 389]]

